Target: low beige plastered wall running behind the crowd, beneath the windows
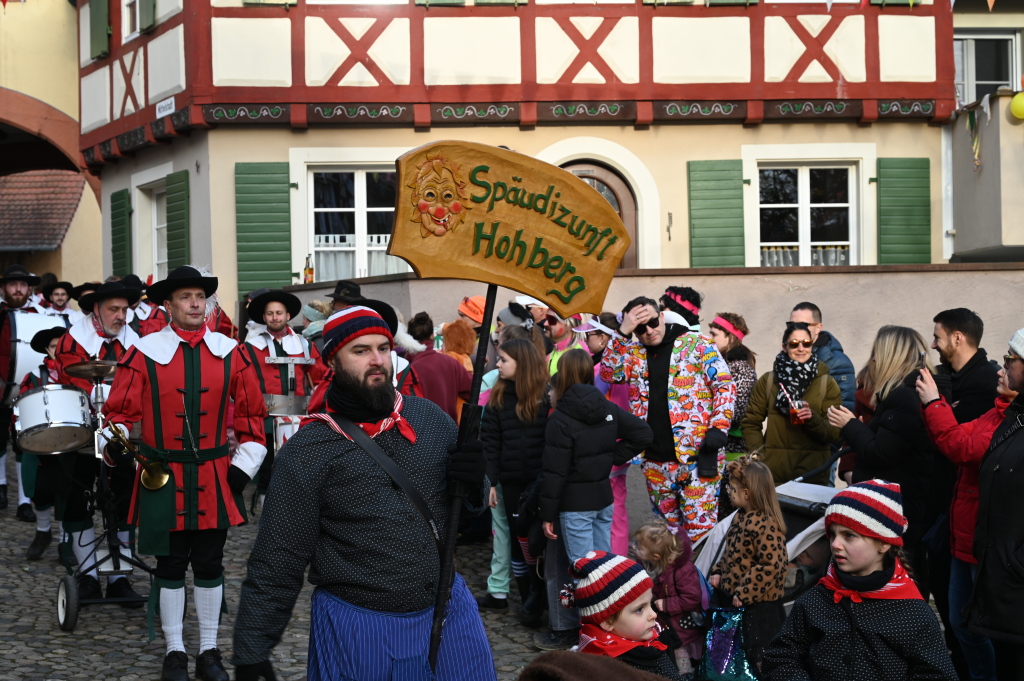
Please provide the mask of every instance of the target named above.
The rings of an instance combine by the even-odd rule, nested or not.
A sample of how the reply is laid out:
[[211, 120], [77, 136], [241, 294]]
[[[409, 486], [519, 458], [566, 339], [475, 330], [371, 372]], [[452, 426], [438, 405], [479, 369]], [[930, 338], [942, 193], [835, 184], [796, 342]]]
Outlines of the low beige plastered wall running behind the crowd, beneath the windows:
[[[806, 300], [821, 308], [824, 329], [840, 340], [859, 370], [867, 361], [880, 327], [894, 324], [916, 329], [931, 344], [932, 318], [937, 312], [952, 307], [968, 307], [981, 315], [985, 323], [982, 347], [988, 350], [990, 357], [1001, 357], [1010, 338], [1024, 327], [1024, 311], [1013, 302], [1014, 292], [1019, 290], [1022, 280], [1024, 266], [1018, 269], [979, 266], [965, 270], [963, 266], [952, 265], [939, 271], [892, 268], [883, 272], [837, 273], [798, 269], [784, 273], [769, 273], [766, 269], [739, 274], [700, 270], [666, 275], [642, 273], [613, 280], [604, 309], [617, 312], [629, 300], [641, 295], [656, 299], [668, 286], [692, 287], [705, 296], [700, 313], [705, 333], [717, 312], [736, 312], [743, 316], [751, 329], [746, 345], [757, 352], [758, 373], [763, 373], [768, 371], [779, 351], [790, 310]], [[294, 293], [306, 301], [325, 299], [324, 294], [330, 291], [296, 290]], [[483, 284], [456, 280], [395, 281], [362, 287], [365, 296], [387, 301], [406, 318], [423, 310], [436, 324], [456, 318], [456, 309], [463, 296], [485, 292]], [[497, 309], [505, 307], [514, 295], [514, 292], [500, 290]], [[938, 359], [935, 352], [931, 357], [933, 361]]]

